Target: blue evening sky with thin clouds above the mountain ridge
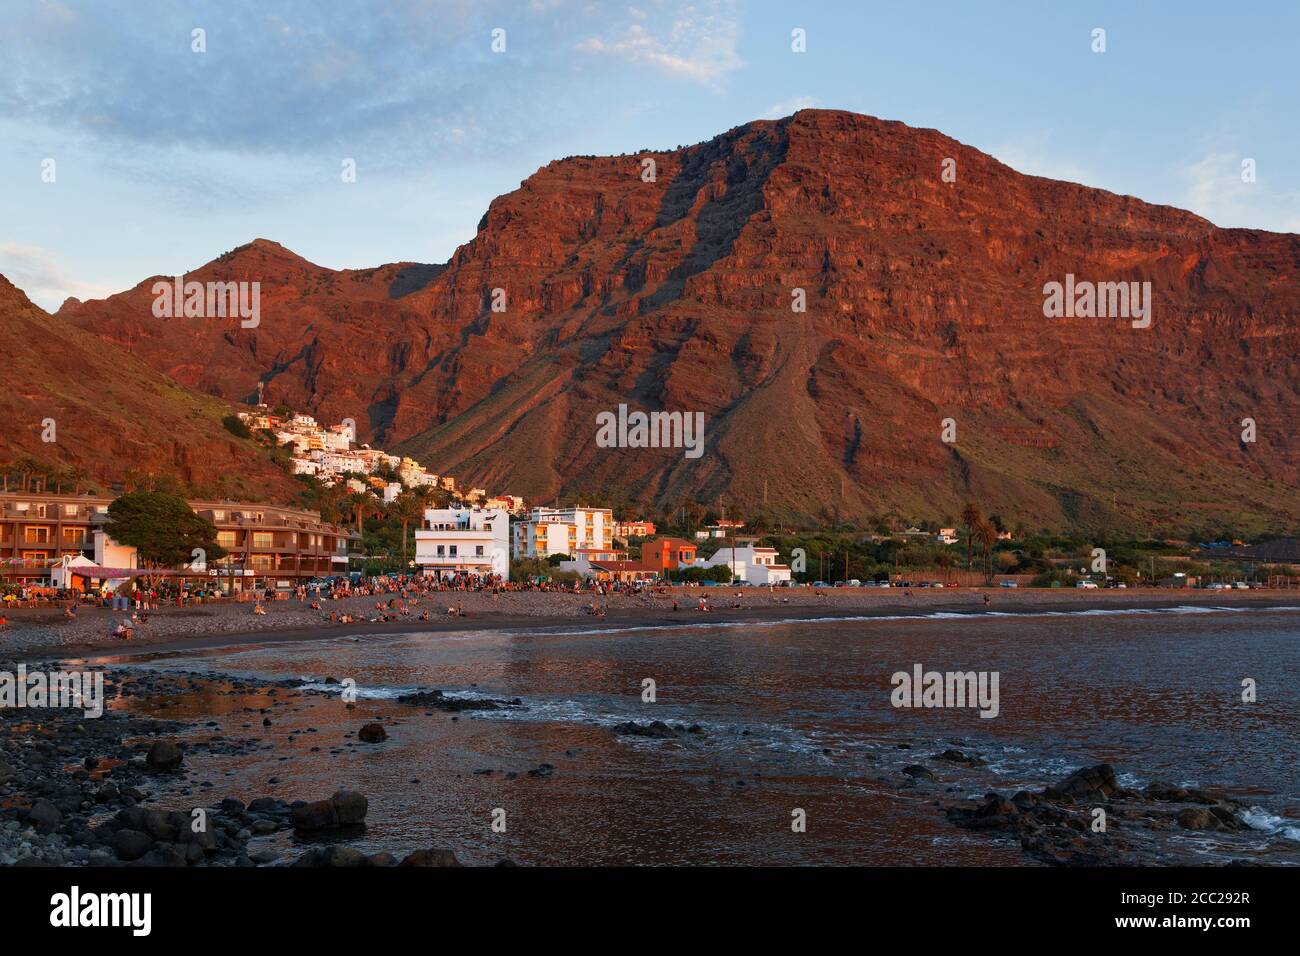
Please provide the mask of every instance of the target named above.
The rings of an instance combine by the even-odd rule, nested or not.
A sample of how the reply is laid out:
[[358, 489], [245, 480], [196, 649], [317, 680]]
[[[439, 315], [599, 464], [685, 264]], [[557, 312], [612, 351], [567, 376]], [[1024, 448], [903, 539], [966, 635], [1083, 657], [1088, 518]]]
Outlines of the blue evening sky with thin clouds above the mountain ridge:
[[1297, 38], [1292, 0], [0, 0], [0, 273], [55, 310], [259, 237], [446, 261], [554, 159], [809, 107], [1300, 233]]

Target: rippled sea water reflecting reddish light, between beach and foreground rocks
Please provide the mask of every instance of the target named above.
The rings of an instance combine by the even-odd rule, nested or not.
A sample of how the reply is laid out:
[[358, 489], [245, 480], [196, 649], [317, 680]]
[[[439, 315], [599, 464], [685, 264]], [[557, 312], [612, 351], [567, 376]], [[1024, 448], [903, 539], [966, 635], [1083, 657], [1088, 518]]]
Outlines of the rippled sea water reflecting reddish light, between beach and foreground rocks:
[[[961, 830], [942, 806], [1109, 762], [1124, 786], [1214, 787], [1248, 808], [1244, 834], [1160, 834], [1157, 862], [1300, 864], [1300, 607], [332, 631], [105, 665], [291, 678], [321, 691], [273, 708], [270, 727], [261, 709], [277, 697], [264, 691], [209, 688], [151, 713], [199, 721], [196, 737], [259, 737], [250, 753], [187, 758], [217, 782], [212, 799], [361, 791], [368, 823], [348, 843], [365, 852], [445, 847], [478, 864], [1024, 865], [1017, 842]], [[918, 665], [996, 674], [997, 715], [893, 706], [892, 675]], [[326, 678], [356, 683], [354, 709]], [[644, 700], [647, 680], [654, 702]], [[420, 688], [521, 706], [448, 714], [394, 700]], [[386, 741], [346, 736], [374, 719]], [[628, 721], [699, 732], [612, 730]], [[933, 760], [949, 748], [985, 766]], [[902, 769], [915, 763], [936, 782], [913, 784]], [[792, 826], [800, 812], [802, 831]], [[292, 849], [291, 836], [268, 840]]]

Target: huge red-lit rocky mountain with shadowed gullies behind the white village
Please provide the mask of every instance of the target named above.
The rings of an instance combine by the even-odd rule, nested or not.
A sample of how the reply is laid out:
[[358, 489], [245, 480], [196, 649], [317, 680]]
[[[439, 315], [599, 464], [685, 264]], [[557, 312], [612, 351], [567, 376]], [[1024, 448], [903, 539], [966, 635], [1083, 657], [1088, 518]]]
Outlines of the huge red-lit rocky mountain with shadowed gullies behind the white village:
[[[1150, 282], [1150, 326], [1045, 317], [1067, 276]], [[256, 241], [187, 278], [260, 281], [261, 324], [160, 334], [152, 280], [60, 316], [198, 390], [246, 401], [264, 381], [270, 402], [530, 499], [1300, 519], [1300, 237], [1023, 176], [898, 122], [802, 111], [559, 160], [446, 265], [335, 272]], [[703, 455], [599, 447], [597, 415], [620, 403], [703, 412]]]

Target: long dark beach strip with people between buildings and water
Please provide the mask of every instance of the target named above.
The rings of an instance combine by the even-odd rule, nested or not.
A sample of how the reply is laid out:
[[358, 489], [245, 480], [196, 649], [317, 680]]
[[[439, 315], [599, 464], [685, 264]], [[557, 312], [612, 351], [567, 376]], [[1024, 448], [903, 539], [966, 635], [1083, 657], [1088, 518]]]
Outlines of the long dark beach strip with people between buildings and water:
[[[935, 614], [961, 614], [972, 618], [1017, 614], [1124, 613], [1174, 607], [1231, 610], [1300, 607], [1300, 592], [1234, 591], [1052, 591], [914, 589], [909, 596], [898, 589], [828, 589], [822, 596], [796, 589], [786, 593], [744, 588], [740, 597], [732, 588], [675, 588], [668, 594], [611, 594], [508, 592], [493, 597], [480, 592], [439, 592], [416, 602], [429, 611], [429, 620], [355, 620], [330, 623], [328, 611], [377, 615], [374, 597], [352, 597], [326, 602], [313, 611], [296, 600], [268, 605], [265, 615], [254, 615], [248, 605], [228, 604], [208, 607], [166, 607], [150, 613], [150, 623], [136, 627], [133, 640], [109, 636], [112, 622], [124, 611], [83, 609], [77, 622], [64, 622], [56, 610], [17, 609], [9, 627], [0, 631], [0, 650], [14, 659], [48, 657], [121, 657], [136, 653], [164, 653], [224, 648], [239, 644], [296, 643], [338, 636], [378, 633], [455, 633], [464, 631], [534, 631], [569, 628], [601, 631], [611, 627], [682, 627], [690, 624], [736, 624], [745, 622], [792, 622], [853, 618], [926, 618]], [[984, 605], [984, 596], [991, 604]], [[707, 597], [712, 610], [696, 610], [696, 601]], [[785, 602], [783, 602], [783, 598]], [[676, 600], [680, 609], [672, 610]], [[595, 602], [603, 615], [588, 613]], [[464, 617], [447, 614], [460, 604]], [[740, 604], [738, 607], [731, 606]]]

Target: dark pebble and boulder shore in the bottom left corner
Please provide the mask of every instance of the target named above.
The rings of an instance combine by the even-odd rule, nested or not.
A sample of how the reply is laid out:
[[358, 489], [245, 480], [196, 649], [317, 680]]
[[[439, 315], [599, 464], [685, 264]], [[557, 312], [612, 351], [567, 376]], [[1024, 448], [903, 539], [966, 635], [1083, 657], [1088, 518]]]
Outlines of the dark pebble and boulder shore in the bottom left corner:
[[[0, 670], [16, 665], [0, 662]], [[58, 670], [49, 662], [34, 669]], [[207, 675], [152, 671], [105, 675], [103, 715], [62, 708], [0, 709], [0, 866], [459, 866], [451, 851], [416, 848], [400, 861], [339, 843], [364, 831], [368, 800], [338, 791], [325, 800], [285, 801], [226, 796], [195, 779], [185, 765], [196, 749], [239, 753], [255, 739], [211, 735], [181, 739], [192, 724], [113, 709], [129, 697], [155, 698], [192, 691]], [[250, 682], [274, 693], [299, 682]], [[448, 698], [450, 700], [450, 698]], [[264, 718], [269, 723], [269, 718]], [[209, 724], [211, 726], [211, 724]], [[165, 796], [194, 796], [186, 813], [165, 809]], [[255, 838], [291, 831], [298, 840], [326, 838], [296, 858], [251, 845]], [[502, 861], [508, 862], [508, 861]]]

